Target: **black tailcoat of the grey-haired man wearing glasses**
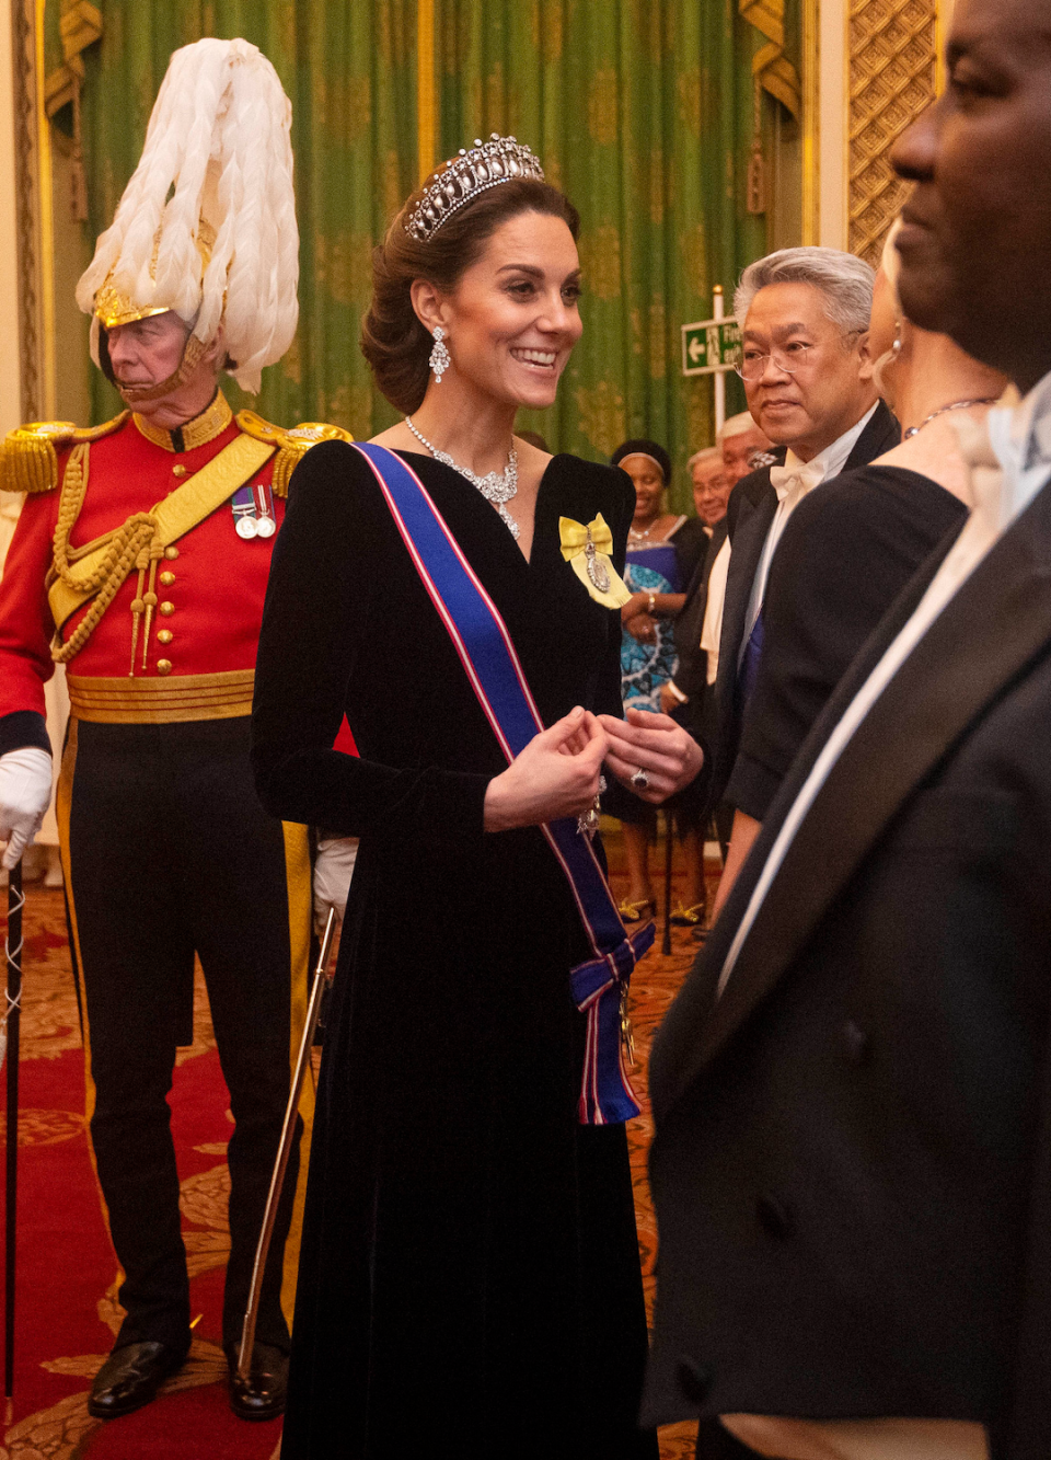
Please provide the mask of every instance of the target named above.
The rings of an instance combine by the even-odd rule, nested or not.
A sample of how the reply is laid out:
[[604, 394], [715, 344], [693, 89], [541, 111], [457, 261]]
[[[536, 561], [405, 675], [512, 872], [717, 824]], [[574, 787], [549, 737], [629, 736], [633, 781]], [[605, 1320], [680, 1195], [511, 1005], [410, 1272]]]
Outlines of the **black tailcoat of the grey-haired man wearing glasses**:
[[[901, 441], [901, 426], [880, 400], [871, 420], [858, 437], [844, 472], [867, 466]], [[778, 453], [785, 458], [784, 448]], [[723, 635], [720, 638], [718, 677], [715, 680], [717, 729], [708, 749], [708, 804], [717, 806], [730, 780], [742, 733], [742, 704], [737, 695], [737, 664], [744, 641], [744, 622], [752, 597], [752, 585], [759, 568], [766, 533], [777, 512], [777, 492], [771, 486], [771, 469], [761, 467], [746, 476], [730, 493], [727, 523], [730, 527], [730, 571], [727, 572]]]

